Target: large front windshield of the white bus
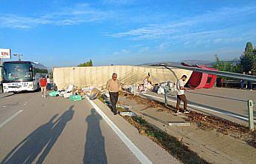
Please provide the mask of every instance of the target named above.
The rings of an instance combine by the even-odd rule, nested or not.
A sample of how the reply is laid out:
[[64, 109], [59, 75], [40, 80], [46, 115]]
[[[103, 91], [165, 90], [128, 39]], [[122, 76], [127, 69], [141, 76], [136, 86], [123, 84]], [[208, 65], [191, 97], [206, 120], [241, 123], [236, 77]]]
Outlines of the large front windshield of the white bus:
[[4, 82], [28, 82], [32, 80], [29, 63], [4, 63]]

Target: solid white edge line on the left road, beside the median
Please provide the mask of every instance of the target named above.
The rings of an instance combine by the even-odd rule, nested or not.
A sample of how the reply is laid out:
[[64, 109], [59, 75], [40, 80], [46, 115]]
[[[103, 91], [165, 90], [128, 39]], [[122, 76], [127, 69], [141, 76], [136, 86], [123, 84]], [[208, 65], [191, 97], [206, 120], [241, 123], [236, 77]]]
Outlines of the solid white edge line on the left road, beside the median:
[[140, 151], [139, 148], [137, 148], [136, 145], [134, 145], [131, 140], [126, 137], [124, 133], [107, 117], [106, 114], [103, 113], [103, 111], [92, 101], [87, 97], [88, 101], [93, 105], [93, 108], [96, 109], [98, 114], [102, 116], [102, 118], [107, 122], [108, 125], [110, 125], [110, 128], [113, 129], [113, 131], [117, 134], [117, 136], [122, 140], [122, 142], [125, 143], [125, 145], [130, 149], [130, 151], [137, 157], [137, 159], [140, 161], [140, 163], [149, 163], [151, 164], [152, 162], [149, 160], [148, 157], [146, 157], [145, 154], [143, 154], [142, 151]]

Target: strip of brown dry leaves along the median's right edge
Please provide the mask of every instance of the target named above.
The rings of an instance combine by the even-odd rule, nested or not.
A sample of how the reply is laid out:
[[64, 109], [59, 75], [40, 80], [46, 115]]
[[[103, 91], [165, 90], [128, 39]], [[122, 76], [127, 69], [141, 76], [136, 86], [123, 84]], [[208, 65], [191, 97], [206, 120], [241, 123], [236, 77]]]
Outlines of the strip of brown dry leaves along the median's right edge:
[[[134, 96], [131, 94], [122, 94], [122, 96], [125, 96], [127, 99], [134, 99], [137, 103], [146, 105], [147, 107], [145, 109], [161, 108], [160, 111], [169, 111], [170, 113], [175, 111], [175, 107], [169, 106], [169, 108], [166, 108], [165, 105], [152, 99], [145, 99], [143, 97]], [[219, 117], [200, 114], [194, 111], [191, 111], [190, 114], [186, 114], [186, 116], [186, 121], [196, 123], [196, 125], [204, 131], [216, 130], [218, 133], [243, 140], [252, 147], [256, 148], [256, 131], [249, 131], [246, 126], [221, 119]]]

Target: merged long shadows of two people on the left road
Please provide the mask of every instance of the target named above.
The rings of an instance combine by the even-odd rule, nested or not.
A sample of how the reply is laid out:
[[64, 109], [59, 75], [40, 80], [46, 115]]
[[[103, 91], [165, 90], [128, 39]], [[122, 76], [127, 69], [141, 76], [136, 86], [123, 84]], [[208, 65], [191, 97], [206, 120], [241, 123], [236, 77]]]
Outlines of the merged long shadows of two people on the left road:
[[[43, 163], [46, 156], [51, 151], [54, 143], [74, 115], [74, 105], [69, 107], [56, 121], [58, 114], [55, 114], [49, 122], [41, 125], [35, 131], [28, 135], [22, 142], [19, 142], [1, 161], [1, 164], [7, 163], [33, 163], [39, 154], [36, 163]], [[47, 146], [46, 146], [47, 145]], [[46, 147], [46, 148], [45, 148]], [[42, 152], [43, 151], [43, 152]]]

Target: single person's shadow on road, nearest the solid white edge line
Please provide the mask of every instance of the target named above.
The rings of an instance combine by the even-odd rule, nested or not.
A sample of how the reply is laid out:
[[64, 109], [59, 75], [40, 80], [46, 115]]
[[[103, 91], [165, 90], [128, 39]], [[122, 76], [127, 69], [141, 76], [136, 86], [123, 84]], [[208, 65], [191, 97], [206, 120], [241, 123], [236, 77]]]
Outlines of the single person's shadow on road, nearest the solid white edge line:
[[100, 127], [102, 117], [96, 113], [94, 108], [85, 120], [87, 122], [87, 137], [84, 148], [84, 164], [86, 163], [107, 163], [107, 156], [104, 147], [104, 137]]

